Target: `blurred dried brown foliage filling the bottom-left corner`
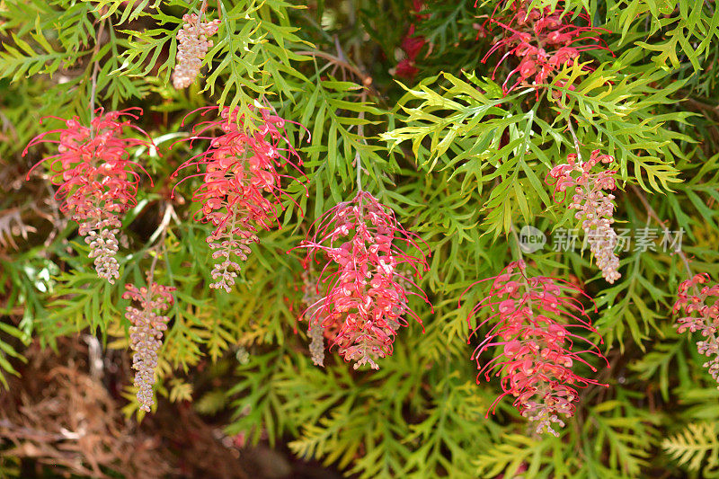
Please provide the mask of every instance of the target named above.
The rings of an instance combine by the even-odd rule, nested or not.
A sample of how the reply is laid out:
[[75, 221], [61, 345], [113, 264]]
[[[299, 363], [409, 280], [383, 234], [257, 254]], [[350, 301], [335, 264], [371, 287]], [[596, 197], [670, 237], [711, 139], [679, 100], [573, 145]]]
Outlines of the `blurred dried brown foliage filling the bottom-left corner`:
[[[121, 412], [110, 362], [77, 339], [58, 349], [33, 343], [22, 378], [0, 392], [0, 457], [88, 477], [247, 477], [237, 451], [189, 404], [164, 404], [138, 425]], [[120, 363], [118, 377], [129, 377], [128, 358]]]

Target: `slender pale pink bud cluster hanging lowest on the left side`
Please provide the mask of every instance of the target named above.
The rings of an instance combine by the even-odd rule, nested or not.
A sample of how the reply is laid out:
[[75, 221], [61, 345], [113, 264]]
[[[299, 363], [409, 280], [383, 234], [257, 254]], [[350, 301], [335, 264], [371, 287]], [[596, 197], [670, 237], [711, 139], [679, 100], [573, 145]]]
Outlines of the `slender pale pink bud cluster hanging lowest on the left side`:
[[[163, 345], [163, 332], [167, 329], [170, 320], [162, 315], [173, 304], [175, 288], [158, 285], [148, 278], [150, 288], [137, 288], [135, 285], [125, 285], [126, 291], [122, 294], [125, 299], [139, 303], [140, 307], [128, 306], [125, 317], [128, 318], [130, 348], [135, 351], [132, 355], [132, 368], [136, 369], [135, 386], [138, 387], [138, 402], [142, 411], [150, 412], [155, 404], [152, 385], [155, 384], [155, 368], [157, 368], [157, 351]], [[160, 313], [160, 314], [158, 314]]]

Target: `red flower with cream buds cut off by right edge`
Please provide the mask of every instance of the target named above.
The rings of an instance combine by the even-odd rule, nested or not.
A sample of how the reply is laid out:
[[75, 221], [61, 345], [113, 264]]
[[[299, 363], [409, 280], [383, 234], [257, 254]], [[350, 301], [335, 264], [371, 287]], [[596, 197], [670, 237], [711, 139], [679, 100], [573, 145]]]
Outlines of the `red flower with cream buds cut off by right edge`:
[[677, 320], [679, 333], [698, 331], [704, 336], [703, 341], [697, 341], [697, 349], [699, 353], [710, 358], [704, 363], [704, 367], [709, 368], [709, 374], [719, 382], [719, 342], [716, 339], [719, 327], [719, 285], [700, 286], [708, 280], [708, 274], [700, 273], [682, 282], [679, 285], [679, 299], [674, 305], [674, 314], [683, 310], [685, 315]]

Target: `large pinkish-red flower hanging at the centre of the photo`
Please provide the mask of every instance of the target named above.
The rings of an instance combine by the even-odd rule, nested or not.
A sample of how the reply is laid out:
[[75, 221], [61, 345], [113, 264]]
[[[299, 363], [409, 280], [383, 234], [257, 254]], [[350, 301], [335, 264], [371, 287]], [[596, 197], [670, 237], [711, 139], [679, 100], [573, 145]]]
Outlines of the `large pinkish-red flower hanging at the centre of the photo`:
[[[395, 213], [366, 191], [330, 209], [315, 222], [315, 234], [300, 244], [306, 248], [304, 262], [325, 262], [316, 283], [319, 299], [310, 306], [309, 321], [320, 319], [325, 331], [333, 332], [332, 344], [354, 368], [392, 354], [392, 343], [404, 314], [422, 319], [407, 305], [419, 296], [430, 304], [421, 288], [400, 271], [420, 277], [427, 271], [422, 248], [397, 222]], [[400, 246], [416, 249], [418, 256]], [[413, 288], [417, 292], [410, 292]], [[314, 308], [314, 310], [313, 310]]]

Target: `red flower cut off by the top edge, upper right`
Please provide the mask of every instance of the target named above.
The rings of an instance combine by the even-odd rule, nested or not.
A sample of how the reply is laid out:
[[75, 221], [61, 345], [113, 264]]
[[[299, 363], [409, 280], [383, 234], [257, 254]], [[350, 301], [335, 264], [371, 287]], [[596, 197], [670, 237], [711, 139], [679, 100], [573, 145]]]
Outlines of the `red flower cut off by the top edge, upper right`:
[[[494, 68], [492, 79], [506, 58], [514, 57], [519, 60], [519, 65], [507, 75], [502, 84], [504, 93], [509, 93], [519, 84], [546, 84], [556, 70], [572, 64], [582, 51], [606, 49], [599, 45], [602, 30], [591, 26], [589, 16], [585, 13], [579, 15], [589, 25], [581, 27], [566, 22], [572, 19], [573, 15], [572, 12], [564, 12], [560, 8], [552, 10], [548, 6], [544, 9], [528, 10], [525, 2], [515, 1], [512, 2], [511, 11], [504, 22], [495, 18], [489, 20], [490, 26], [497, 24], [502, 27], [503, 36], [501, 40], [494, 42], [492, 49], [482, 58], [482, 63], [495, 51], [506, 50]], [[587, 36], [587, 33], [590, 35]], [[593, 43], [574, 46], [577, 42], [587, 40]], [[515, 74], [518, 74], [517, 80], [508, 87], [510, 78]]]

